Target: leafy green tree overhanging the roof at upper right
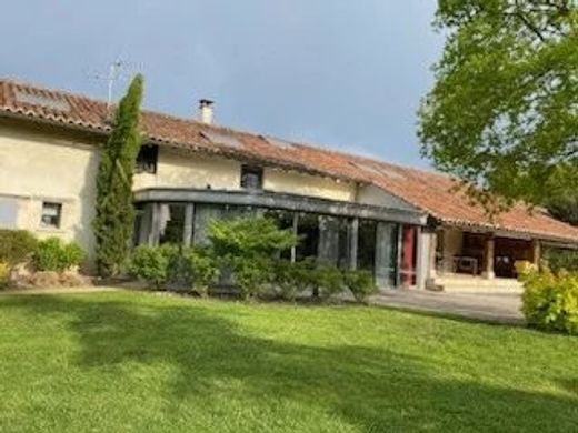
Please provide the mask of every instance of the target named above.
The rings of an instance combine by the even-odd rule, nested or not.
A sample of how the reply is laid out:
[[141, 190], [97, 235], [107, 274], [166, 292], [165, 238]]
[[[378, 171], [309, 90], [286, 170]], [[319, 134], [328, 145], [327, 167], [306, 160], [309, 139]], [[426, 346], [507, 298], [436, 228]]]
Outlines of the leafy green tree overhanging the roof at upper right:
[[[422, 153], [498, 209], [578, 185], [576, 0], [438, 0]], [[499, 197], [499, 198], [497, 198]]]

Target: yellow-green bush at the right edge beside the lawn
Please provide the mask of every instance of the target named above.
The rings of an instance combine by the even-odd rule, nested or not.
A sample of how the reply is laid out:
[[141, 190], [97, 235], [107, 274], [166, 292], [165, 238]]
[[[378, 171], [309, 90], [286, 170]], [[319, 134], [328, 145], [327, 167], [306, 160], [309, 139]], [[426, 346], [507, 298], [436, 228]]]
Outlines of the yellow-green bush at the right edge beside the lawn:
[[521, 280], [522, 312], [530, 326], [578, 334], [578, 274], [531, 272]]

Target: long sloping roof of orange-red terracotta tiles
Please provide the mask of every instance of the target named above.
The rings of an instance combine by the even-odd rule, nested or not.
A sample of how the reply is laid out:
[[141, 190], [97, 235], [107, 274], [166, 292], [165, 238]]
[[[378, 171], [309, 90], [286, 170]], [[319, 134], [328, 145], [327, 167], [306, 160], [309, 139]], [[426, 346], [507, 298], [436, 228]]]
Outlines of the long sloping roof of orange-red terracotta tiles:
[[[0, 113], [102, 133], [110, 130], [104, 102], [11, 80], [0, 79]], [[446, 224], [578, 242], [577, 228], [557, 221], [540, 210], [529, 213], [522, 205], [517, 205], [490, 221], [481, 207], [470, 204], [464, 193], [452, 190], [455, 182], [445, 174], [207, 125], [157, 112], [144, 111], [142, 123], [148, 138], [159, 144], [256, 160], [272, 167], [372, 184]]]

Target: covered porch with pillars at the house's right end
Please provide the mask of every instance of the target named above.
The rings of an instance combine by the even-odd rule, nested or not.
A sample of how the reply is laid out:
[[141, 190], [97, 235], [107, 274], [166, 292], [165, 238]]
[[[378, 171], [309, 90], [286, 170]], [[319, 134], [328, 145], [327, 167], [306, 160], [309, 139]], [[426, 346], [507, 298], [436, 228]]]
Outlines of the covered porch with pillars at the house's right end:
[[430, 289], [519, 290], [516, 262], [540, 262], [540, 240], [516, 233], [441, 226], [431, 240]]

